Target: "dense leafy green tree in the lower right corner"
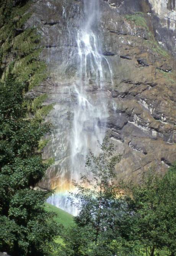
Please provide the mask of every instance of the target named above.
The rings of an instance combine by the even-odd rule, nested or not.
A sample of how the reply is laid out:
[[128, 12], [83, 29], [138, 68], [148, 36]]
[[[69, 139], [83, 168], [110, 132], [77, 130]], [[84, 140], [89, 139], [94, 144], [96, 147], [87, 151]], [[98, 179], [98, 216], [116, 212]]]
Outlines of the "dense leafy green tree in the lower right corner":
[[176, 164], [163, 177], [150, 171], [128, 191], [137, 219], [135, 238], [146, 255], [176, 255]]

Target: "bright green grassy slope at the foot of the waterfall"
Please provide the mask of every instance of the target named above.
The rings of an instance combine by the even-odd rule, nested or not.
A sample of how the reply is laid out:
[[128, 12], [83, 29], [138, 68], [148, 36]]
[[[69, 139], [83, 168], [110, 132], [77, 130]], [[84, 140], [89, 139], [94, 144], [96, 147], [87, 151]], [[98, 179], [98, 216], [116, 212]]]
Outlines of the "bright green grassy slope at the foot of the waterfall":
[[45, 204], [45, 210], [48, 212], [55, 212], [58, 216], [54, 218], [54, 220], [58, 224], [62, 224], [65, 228], [70, 227], [73, 225], [73, 215], [69, 214], [68, 212], [65, 212], [64, 210], [61, 210], [54, 205], [51, 204]]

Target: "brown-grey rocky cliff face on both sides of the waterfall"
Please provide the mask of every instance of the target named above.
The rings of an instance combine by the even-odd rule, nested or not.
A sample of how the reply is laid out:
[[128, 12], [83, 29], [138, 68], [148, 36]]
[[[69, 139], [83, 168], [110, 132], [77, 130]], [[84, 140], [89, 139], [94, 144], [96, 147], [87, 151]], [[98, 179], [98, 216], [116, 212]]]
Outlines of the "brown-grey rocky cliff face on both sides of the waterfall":
[[[164, 172], [176, 159], [175, 0], [100, 0], [100, 5], [97, 34], [112, 79], [105, 77], [103, 91], [92, 79], [86, 91], [95, 106], [107, 104], [108, 117], [100, 123], [106, 123], [117, 152], [123, 153], [118, 174], [139, 181], [148, 168]], [[44, 150], [47, 157], [55, 157], [55, 166], [42, 186], [55, 188], [63, 170], [64, 177], [69, 176], [69, 138], [77, 104], [72, 84], [79, 65], [75, 31], [83, 21], [83, 2], [42, 0], [31, 10], [26, 27], [38, 27], [41, 59], [49, 69], [48, 78], [31, 94], [47, 93], [46, 104], [55, 104], [47, 117], [54, 124], [52, 137]]]

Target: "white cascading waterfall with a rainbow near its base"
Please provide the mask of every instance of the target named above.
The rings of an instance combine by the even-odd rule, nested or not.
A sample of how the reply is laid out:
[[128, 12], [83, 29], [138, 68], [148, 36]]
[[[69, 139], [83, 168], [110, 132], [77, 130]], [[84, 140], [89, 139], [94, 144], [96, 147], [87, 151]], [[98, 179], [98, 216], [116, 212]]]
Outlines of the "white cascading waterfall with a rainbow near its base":
[[[72, 180], [78, 181], [80, 173], [87, 174], [86, 156], [91, 149], [98, 153], [98, 142], [103, 141], [106, 134], [108, 109], [105, 83], [111, 81], [112, 72], [108, 60], [101, 54], [98, 37], [100, 20], [99, 0], [84, 0], [85, 19], [76, 31], [77, 41], [77, 79], [70, 90], [73, 97], [73, 120], [70, 140], [69, 170], [60, 170], [58, 191], [48, 199], [51, 204], [77, 214], [77, 209], [67, 202], [68, 190], [72, 191]], [[90, 91], [94, 91], [93, 97]], [[66, 189], [67, 188], [67, 189]]]

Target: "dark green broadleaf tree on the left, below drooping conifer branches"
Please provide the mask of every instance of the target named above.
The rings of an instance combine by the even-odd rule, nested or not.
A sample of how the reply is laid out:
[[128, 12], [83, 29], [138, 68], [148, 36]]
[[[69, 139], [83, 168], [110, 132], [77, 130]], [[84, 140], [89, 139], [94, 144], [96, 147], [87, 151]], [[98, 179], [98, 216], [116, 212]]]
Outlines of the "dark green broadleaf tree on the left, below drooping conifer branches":
[[51, 255], [58, 231], [53, 214], [44, 210], [50, 192], [34, 189], [49, 166], [37, 148], [50, 125], [26, 118], [24, 85], [12, 76], [0, 91], [0, 251]]

